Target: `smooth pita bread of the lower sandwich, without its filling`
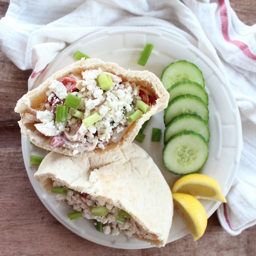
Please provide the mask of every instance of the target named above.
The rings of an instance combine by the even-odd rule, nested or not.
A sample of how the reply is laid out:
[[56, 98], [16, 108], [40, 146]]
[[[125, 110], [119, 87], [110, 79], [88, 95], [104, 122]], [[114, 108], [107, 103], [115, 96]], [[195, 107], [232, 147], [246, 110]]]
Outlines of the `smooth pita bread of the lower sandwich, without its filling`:
[[[133, 237], [157, 247], [166, 244], [172, 225], [172, 193], [157, 165], [140, 146], [131, 143], [108, 157], [98, 154], [78, 158], [50, 152], [34, 177], [57, 200], [51, 192], [53, 180], [128, 212], [137, 228]], [[120, 232], [127, 235], [129, 230]]]

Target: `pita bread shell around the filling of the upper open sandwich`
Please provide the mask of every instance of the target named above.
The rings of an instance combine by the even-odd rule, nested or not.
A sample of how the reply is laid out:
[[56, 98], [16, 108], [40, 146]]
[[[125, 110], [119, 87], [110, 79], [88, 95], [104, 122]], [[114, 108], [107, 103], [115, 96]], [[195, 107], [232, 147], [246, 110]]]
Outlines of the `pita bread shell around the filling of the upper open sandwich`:
[[20, 113], [21, 120], [18, 122], [21, 129], [21, 134], [24, 137], [29, 137], [29, 140], [37, 145], [38, 147], [44, 148], [49, 151], [55, 151], [61, 154], [66, 154], [73, 156], [73, 150], [69, 148], [64, 148], [62, 146], [52, 147], [51, 140], [52, 137], [47, 137], [41, 132], [39, 132], [34, 123], [25, 123], [24, 115], [25, 113], [36, 114], [37, 110], [42, 110], [42, 105], [47, 99], [46, 92], [49, 90], [49, 85], [53, 80], [61, 79], [62, 77], [69, 76], [70, 73], [81, 74], [84, 70], [92, 70], [101, 68], [103, 72], [113, 73], [116, 76], [120, 76], [123, 81], [135, 82], [140, 87], [144, 88], [154, 95], [157, 100], [155, 104], [151, 105], [150, 110], [143, 114], [139, 119], [132, 123], [129, 126], [128, 130], [122, 136], [122, 139], [118, 143], [109, 143], [105, 146], [105, 149], [95, 148], [89, 152], [79, 152], [76, 154], [78, 157], [82, 156], [93, 156], [94, 154], [104, 154], [108, 151], [115, 150], [117, 148], [122, 148], [125, 145], [131, 143], [136, 135], [138, 134], [143, 123], [150, 118], [150, 116], [155, 113], [165, 109], [169, 101], [169, 93], [163, 87], [160, 79], [157, 78], [153, 73], [149, 71], [133, 71], [125, 70], [122, 67], [119, 67], [116, 63], [104, 62], [96, 58], [89, 58], [86, 60], [76, 61], [73, 64], [59, 70], [46, 81], [40, 84], [37, 88], [26, 93], [21, 99], [18, 100], [15, 107], [15, 112]]

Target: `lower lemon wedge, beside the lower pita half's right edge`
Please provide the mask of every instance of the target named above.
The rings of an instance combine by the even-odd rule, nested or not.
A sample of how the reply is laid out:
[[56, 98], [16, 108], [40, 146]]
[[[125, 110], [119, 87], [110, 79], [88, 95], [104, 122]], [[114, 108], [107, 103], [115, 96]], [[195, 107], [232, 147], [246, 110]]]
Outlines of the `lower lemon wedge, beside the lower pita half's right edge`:
[[172, 194], [173, 205], [186, 224], [194, 241], [204, 235], [207, 227], [207, 215], [203, 205], [192, 195]]

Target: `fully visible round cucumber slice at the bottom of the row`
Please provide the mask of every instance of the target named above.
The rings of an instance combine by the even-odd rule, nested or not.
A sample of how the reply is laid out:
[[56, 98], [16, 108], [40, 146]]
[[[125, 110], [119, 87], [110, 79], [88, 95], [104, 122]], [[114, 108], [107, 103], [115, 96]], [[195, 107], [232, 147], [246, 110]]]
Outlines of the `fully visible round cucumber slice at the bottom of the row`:
[[163, 163], [170, 172], [186, 175], [197, 172], [206, 163], [209, 149], [204, 137], [193, 131], [172, 136], [163, 148]]

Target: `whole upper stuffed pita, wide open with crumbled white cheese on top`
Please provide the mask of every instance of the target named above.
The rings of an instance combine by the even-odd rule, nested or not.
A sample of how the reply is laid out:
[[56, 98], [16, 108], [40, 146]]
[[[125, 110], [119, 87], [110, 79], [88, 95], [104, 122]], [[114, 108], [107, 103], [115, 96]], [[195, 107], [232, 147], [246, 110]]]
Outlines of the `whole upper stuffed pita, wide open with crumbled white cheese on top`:
[[148, 71], [99, 59], [76, 61], [18, 100], [21, 134], [66, 155], [91, 156], [131, 143], [166, 108], [169, 93]]

